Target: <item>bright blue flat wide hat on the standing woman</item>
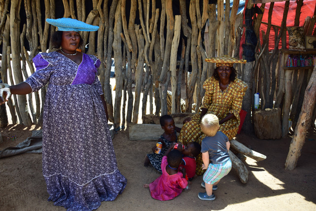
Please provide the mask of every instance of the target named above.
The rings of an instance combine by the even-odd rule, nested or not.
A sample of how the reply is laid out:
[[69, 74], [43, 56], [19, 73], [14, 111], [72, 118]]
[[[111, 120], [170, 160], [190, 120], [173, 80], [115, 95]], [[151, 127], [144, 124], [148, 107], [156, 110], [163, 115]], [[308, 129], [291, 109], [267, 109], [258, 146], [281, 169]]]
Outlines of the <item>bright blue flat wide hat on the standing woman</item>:
[[97, 31], [99, 29], [98, 26], [86, 24], [82, 21], [78, 21], [78, 20], [72, 19], [72, 18], [59, 18], [59, 19], [47, 18], [46, 22], [55, 26], [55, 27], [58, 27], [58, 31], [91, 32], [91, 31]]

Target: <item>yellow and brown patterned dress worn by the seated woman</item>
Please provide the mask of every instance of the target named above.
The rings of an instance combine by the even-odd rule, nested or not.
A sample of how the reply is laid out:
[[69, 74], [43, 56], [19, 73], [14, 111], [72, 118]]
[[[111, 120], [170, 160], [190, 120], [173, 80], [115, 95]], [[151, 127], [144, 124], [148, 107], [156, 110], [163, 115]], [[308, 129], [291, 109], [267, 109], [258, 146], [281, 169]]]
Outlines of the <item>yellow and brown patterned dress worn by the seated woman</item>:
[[[240, 79], [235, 79], [229, 86], [222, 91], [219, 87], [219, 81], [213, 76], [208, 78], [203, 88], [206, 90], [204, 100], [201, 106], [207, 108], [207, 113], [215, 114], [219, 120], [225, 118], [228, 113], [233, 113], [234, 118], [224, 122], [220, 125], [219, 131], [223, 132], [229, 140], [233, 139], [238, 131], [240, 116], [239, 112], [242, 109], [243, 98], [247, 90], [247, 85]], [[178, 141], [183, 144], [187, 144], [191, 141], [197, 141], [202, 143], [205, 138], [203, 134], [200, 122], [201, 112], [192, 116], [190, 122], [186, 122], [180, 132]], [[202, 154], [196, 159], [196, 174], [201, 175], [202, 171]]]

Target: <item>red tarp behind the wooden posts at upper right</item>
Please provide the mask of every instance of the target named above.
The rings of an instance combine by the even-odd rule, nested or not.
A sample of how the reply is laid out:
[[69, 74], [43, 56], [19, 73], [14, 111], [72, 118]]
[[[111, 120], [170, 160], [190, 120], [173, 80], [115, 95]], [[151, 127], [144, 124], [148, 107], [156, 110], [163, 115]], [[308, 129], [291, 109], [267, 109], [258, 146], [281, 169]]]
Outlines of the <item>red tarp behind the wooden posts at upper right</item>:
[[[285, 4], [285, 1], [274, 3], [271, 24], [281, 27], [281, 21], [283, 18], [283, 11], [284, 11], [284, 4]], [[299, 26], [304, 26], [304, 22], [305, 22], [305, 19], [307, 16], [313, 17], [314, 10], [315, 10], [315, 4], [316, 4], [316, 0], [304, 0], [303, 1], [303, 6], [301, 8], [301, 16], [300, 16], [300, 25]], [[257, 6], [260, 7], [261, 4], [257, 4]], [[287, 27], [294, 26], [296, 6], [297, 6], [296, 1], [291, 0], [290, 4], [289, 4], [289, 8], [288, 8], [287, 18], [286, 18], [286, 26]], [[263, 17], [262, 17], [262, 22], [268, 23], [269, 8], [270, 8], [270, 3], [266, 3]], [[266, 24], [261, 24], [261, 26], [260, 26], [260, 42], [262, 43], [261, 31], [264, 31], [264, 32], [267, 31]], [[287, 31], [286, 31], [286, 34], [287, 34]], [[274, 35], [275, 35], [274, 29], [271, 27], [270, 36], [269, 36], [269, 50], [274, 49], [274, 46], [275, 46]], [[279, 48], [281, 48], [281, 41], [279, 43]], [[288, 49], [288, 34], [286, 37], [286, 48]]]

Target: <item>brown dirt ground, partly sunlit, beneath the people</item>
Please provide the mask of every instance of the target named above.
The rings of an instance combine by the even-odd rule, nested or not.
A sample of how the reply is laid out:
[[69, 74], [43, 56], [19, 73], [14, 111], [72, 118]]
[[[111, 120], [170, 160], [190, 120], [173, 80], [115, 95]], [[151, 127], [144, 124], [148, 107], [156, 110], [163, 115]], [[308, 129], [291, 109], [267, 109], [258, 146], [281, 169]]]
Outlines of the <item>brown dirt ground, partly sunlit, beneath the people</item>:
[[[0, 150], [16, 146], [40, 128], [9, 125], [1, 129]], [[16, 139], [12, 141], [11, 137]], [[8, 139], [9, 138], [9, 139]], [[113, 140], [118, 168], [128, 184], [122, 195], [113, 202], [102, 202], [103, 210], [234, 210], [234, 211], [312, 211], [316, 210], [316, 130], [310, 131], [302, 155], [294, 171], [285, 171], [284, 163], [291, 137], [281, 140], [259, 140], [254, 135], [241, 133], [236, 139], [267, 156], [264, 161], [246, 159], [249, 179], [240, 182], [232, 170], [214, 191], [215, 201], [201, 201], [198, 192], [202, 176], [193, 180], [174, 200], [161, 202], [152, 199], [149, 189], [143, 188], [159, 176], [153, 168], [142, 165], [143, 158], [155, 141], [130, 141], [128, 131], [119, 131]], [[1, 211], [63, 211], [48, 202], [46, 184], [42, 176], [41, 154], [25, 153], [0, 159]]]

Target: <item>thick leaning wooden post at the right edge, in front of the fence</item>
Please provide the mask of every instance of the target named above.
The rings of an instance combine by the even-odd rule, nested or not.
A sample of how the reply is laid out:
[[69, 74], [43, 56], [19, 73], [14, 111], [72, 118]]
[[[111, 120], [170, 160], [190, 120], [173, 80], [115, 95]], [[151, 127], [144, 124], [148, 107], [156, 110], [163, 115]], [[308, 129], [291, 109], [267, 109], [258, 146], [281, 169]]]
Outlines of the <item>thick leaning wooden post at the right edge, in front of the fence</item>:
[[316, 104], [316, 68], [312, 73], [311, 79], [305, 91], [302, 110], [298, 119], [297, 127], [295, 128], [294, 136], [285, 161], [286, 170], [294, 170], [297, 165], [297, 160], [301, 155], [302, 147], [305, 142], [305, 137], [308, 128], [311, 124], [314, 107]]

